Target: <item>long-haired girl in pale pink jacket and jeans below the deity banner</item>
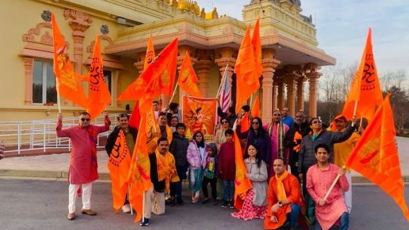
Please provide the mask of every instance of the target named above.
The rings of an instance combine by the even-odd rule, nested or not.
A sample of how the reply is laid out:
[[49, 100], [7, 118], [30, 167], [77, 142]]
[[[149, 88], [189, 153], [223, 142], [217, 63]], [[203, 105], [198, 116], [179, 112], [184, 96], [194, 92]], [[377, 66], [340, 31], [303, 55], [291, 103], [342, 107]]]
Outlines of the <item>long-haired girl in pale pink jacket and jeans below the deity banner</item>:
[[189, 188], [192, 190], [192, 204], [198, 203], [203, 181], [203, 170], [206, 167], [207, 152], [205, 137], [200, 131], [193, 134], [189, 143], [187, 160], [189, 163]]

